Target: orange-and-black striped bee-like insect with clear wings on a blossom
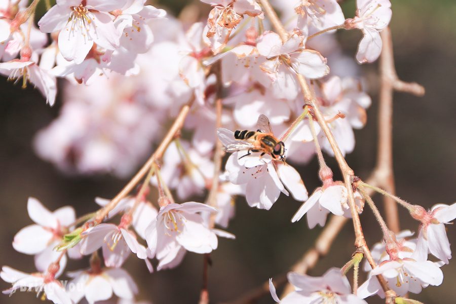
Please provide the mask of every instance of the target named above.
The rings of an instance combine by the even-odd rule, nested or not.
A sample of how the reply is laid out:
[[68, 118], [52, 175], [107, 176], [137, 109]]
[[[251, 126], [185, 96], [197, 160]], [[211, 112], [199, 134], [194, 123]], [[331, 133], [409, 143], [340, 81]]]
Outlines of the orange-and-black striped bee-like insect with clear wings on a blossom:
[[284, 160], [285, 145], [274, 136], [269, 119], [260, 115], [257, 125], [258, 130], [256, 131], [237, 130], [233, 132], [225, 128], [218, 128], [217, 135], [224, 145], [224, 150], [230, 153], [248, 150], [244, 156], [250, 155], [250, 152], [262, 152], [261, 156], [269, 154], [274, 159]]

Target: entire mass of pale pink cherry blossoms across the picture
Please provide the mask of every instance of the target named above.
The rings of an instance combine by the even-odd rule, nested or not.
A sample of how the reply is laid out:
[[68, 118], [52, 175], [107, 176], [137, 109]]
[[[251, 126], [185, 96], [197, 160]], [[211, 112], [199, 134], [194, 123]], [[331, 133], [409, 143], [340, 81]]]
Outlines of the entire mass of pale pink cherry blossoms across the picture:
[[[37, 272], [3, 267], [2, 279], [12, 283], [4, 293], [26, 288], [65, 304], [113, 294], [133, 300], [138, 287], [122, 268], [127, 258], [161, 271], [176, 267], [187, 252], [212, 252], [218, 237], [235, 239], [216, 226], [229, 227], [236, 196], [265, 210], [281, 194], [291, 196], [302, 202], [291, 221], [307, 214], [310, 229], [324, 226], [330, 213], [356, 215], [346, 184], [333, 180], [324, 163], [322, 151], [334, 151], [319, 124], [329, 127], [343, 156], [354, 150], [354, 129], [364, 127], [371, 104], [358, 64], [379, 57], [390, 1], [357, 0], [353, 18], [336, 0], [274, 1], [285, 36], [255, 0], [201, 2], [207, 19], [188, 24], [145, 0], [57, 0], [36, 27], [36, 1], [0, 0], [0, 73], [33, 84], [51, 106], [57, 78], [65, 79], [59, 117], [34, 140], [36, 153], [64, 173], [130, 176], [165, 126], [188, 109], [135, 195], [97, 198], [99, 211], [81, 218], [70, 206], [51, 212], [29, 199], [34, 224], [16, 234], [13, 247], [34, 256]], [[341, 51], [337, 29], [362, 32], [356, 55]], [[311, 88], [324, 122], [317, 121], [299, 79]], [[221, 172], [220, 143], [231, 153]], [[315, 155], [322, 185], [309, 195], [294, 165]], [[206, 194], [204, 204], [190, 201]], [[355, 186], [353, 196], [354, 208], [363, 212], [365, 197]], [[272, 297], [364, 303], [385, 296], [377, 275], [399, 296], [440, 285], [440, 267], [451, 258], [444, 224], [456, 217], [455, 208], [411, 208], [421, 222], [417, 237], [406, 231], [376, 244], [378, 267], [365, 265], [368, 279], [357, 295], [345, 273], [331, 268], [318, 278], [289, 273], [295, 291], [282, 299], [271, 280]], [[68, 272], [72, 285], [62, 285], [58, 278], [69, 259], [84, 256], [90, 256], [89, 267]]]

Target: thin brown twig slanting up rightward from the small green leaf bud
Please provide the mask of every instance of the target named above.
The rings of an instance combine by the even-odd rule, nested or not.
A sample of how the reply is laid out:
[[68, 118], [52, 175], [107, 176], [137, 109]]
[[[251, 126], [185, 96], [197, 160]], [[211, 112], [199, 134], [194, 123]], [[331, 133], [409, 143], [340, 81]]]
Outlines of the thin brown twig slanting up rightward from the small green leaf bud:
[[166, 151], [166, 148], [170, 144], [170, 142], [173, 140], [175, 135], [180, 131], [180, 129], [183, 126], [183, 123], [185, 121], [185, 118], [188, 115], [188, 112], [190, 110], [190, 106], [193, 102], [193, 99], [186, 105], [184, 105], [176, 117], [176, 120], [174, 121], [173, 125], [169, 129], [168, 133], [166, 136], [163, 138], [162, 142], [158, 146], [157, 150], [153, 155], [150, 156], [150, 158], [145, 162], [145, 164], [139, 169], [139, 171], [133, 176], [133, 178], [122, 188], [122, 190], [102, 209], [100, 209], [97, 212], [97, 215], [95, 216], [94, 224], [99, 224], [103, 221], [103, 219], [107, 216], [109, 211], [111, 211], [116, 205], [123, 199], [125, 198], [132, 190], [133, 188], [141, 181], [141, 179], [144, 177], [144, 175], [147, 174], [149, 171], [150, 166], [152, 166], [155, 162], [160, 160], [163, 157], [163, 154]]

